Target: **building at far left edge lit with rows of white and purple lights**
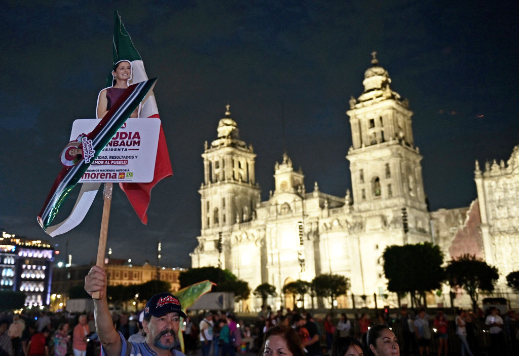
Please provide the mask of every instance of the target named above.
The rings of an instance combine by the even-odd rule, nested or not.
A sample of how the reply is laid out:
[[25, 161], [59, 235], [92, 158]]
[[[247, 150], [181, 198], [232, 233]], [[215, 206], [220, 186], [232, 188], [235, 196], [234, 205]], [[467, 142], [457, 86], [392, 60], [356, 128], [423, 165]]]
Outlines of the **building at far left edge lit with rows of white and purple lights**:
[[25, 306], [49, 305], [52, 261], [49, 242], [4, 231], [0, 237], [0, 289], [25, 293]]

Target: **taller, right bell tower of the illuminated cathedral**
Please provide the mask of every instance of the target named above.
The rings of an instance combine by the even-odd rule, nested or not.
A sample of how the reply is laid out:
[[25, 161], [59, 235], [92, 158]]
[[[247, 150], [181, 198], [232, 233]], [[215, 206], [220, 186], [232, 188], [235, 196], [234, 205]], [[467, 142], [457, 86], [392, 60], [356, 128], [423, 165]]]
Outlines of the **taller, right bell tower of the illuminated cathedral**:
[[[364, 74], [364, 92], [351, 97], [350, 118], [353, 145], [350, 161], [354, 210], [360, 213], [390, 210], [388, 224], [403, 225], [407, 234], [423, 240], [429, 232], [422, 159], [415, 147], [407, 99], [390, 87], [388, 72], [379, 65], [376, 52]], [[405, 220], [403, 222], [403, 217]], [[419, 236], [421, 235], [421, 238]], [[412, 242], [411, 241], [409, 242]], [[407, 235], [404, 237], [404, 243]]]

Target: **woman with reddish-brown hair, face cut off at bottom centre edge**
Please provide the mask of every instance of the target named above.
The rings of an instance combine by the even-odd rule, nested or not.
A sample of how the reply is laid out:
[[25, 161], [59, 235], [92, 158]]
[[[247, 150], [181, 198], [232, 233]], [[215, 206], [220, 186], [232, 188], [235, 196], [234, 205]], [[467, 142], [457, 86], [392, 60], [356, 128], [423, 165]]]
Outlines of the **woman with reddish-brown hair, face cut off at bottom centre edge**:
[[265, 333], [258, 356], [305, 356], [305, 351], [293, 328], [278, 325]]

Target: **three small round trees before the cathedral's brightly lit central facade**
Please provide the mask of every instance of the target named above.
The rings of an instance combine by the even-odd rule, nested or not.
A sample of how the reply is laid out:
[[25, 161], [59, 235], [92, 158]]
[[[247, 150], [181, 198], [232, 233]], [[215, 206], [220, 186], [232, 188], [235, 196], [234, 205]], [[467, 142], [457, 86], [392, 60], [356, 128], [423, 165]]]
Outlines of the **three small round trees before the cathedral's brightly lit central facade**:
[[[293, 305], [296, 305], [296, 297], [299, 296], [298, 300], [303, 302], [303, 308], [305, 307], [305, 295], [310, 295], [312, 304], [313, 297], [324, 297], [330, 300], [332, 309], [334, 307], [334, 300], [342, 294], [346, 294], [350, 288], [349, 278], [340, 275], [320, 275], [314, 278], [311, 282], [297, 281], [287, 283], [283, 286], [282, 292], [285, 295], [292, 295]], [[266, 300], [269, 296], [277, 296], [276, 287], [274, 285], [263, 283], [256, 287], [254, 295], [261, 297], [262, 304], [266, 304]], [[312, 305], [313, 308], [313, 305]]]

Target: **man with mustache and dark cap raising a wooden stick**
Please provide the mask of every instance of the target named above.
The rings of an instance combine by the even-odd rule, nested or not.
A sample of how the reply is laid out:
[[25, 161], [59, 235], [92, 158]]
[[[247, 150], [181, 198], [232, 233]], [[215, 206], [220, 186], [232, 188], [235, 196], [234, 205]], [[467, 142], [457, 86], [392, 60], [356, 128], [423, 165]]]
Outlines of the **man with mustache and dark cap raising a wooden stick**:
[[173, 349], [179, 345], [180, 317], [186, 318], [179, 299], [167, 292], [151, 297], [142, 321], [145, 341], [130, 343], [115, 330], [106, 301], [106, 281], [106, 272], [98, 266], [93, 266], [85, 277], [85, 291], [90, 295], [100, 292], [99, 299], [94, 299], [94, 307], [102, 356], [185, 356]]

